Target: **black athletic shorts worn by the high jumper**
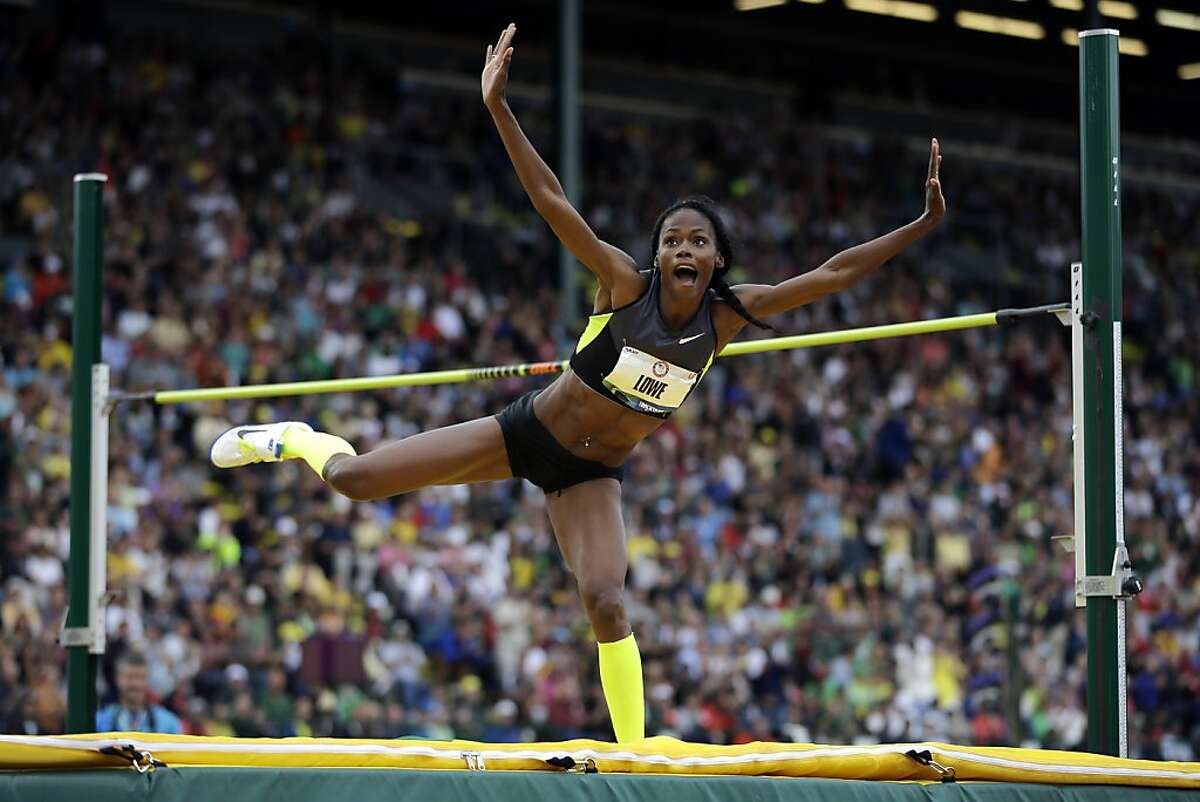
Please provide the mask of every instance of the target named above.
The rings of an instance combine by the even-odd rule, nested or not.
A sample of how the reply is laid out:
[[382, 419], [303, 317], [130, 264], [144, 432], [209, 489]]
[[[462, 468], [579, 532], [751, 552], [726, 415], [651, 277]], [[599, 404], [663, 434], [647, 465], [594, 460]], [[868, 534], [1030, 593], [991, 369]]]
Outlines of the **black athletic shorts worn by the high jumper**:
[[512, 475], [528, 479], [547, 493], [560, 492], [589, 479], [624, 479], [625, 466], [613, 468], [602, 462], [584, 460], [554, 439], [533, 414], [533, 400], [539, 393], [541, 390], [526, 393], [496, 415], [504, 432], [504, 447], [509, 451]]

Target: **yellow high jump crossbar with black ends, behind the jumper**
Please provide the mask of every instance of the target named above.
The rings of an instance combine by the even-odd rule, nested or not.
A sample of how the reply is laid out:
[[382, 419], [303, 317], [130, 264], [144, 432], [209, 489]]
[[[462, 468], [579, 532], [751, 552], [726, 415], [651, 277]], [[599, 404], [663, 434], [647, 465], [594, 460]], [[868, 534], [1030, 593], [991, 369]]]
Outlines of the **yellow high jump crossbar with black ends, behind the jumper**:
[[[929, 321], [871, 325], [840, 331], [821, 331], [800, 334], [769, 340], [751, 340], [733, 342], [725, 347], [719, 357], [743, 357], [769, 351], [792, 351], [797, 348], [815, 348], [845, 342], [863, 342], [888, 337], [907, 337], [916, 334], [934, 334], [936, 331], [954, 331], [998, 325], [1021, 318], [1042, 315], [1058, 315], [1063, 323], [1069, 323], [1068, 304], [1048, 304], [1028, 309], [1002, 309], [978, 315], [960, 315]], [[462, 367], [457, 370], [426, 371], [421, 373], [398, 373], [394, 376], [366, 376], [360, 378], [334, 378], [312, 382], [280, 382], [275, 384], [247, 384], [242, 387], [214, 387], [193, 390], [158, 390], [151, 393], [109, 395], [112, 401], [154, 401], [155, 403], [187, 403], [196, 401], [230, 401], [239, 399], [277, 399], [296, 395], [323, 395], [326, 393], [361, 393], [365, 390], [384, 390], [397, 387], [425, 387], [431, 384], [455, 384], [460, 382], [478, 382], [510, 376], [550, 376], [566, 370], [569, 360], [545, 363], [524, 363], [520, 365], [493, 365], [490, 367]]]

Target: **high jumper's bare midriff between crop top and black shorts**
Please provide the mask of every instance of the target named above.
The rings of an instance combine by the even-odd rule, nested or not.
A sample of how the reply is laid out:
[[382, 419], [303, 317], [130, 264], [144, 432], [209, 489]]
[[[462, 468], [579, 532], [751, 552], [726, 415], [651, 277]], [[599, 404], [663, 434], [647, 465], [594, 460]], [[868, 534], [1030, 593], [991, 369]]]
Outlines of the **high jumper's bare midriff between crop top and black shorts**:
[[568, 367], [533, 400], [533, 412], [554, 439], [584, 460], [617, 467], [665, 419], [611, 401]]

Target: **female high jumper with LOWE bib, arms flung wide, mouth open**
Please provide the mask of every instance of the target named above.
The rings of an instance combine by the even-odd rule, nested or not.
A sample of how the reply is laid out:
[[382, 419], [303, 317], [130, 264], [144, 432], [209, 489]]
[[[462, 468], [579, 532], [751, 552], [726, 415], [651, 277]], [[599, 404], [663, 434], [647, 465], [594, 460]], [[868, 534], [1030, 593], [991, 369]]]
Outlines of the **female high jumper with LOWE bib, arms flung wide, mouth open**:
[[600, 680], [618, 742], [644, 737], [642, 665], [625, 617], [620, 483], [634, 448], [662, 425], [746, 323], [853, 286], [932, 231], [946, 214], [937, 139], [929, 150], [925, 210], [913, 222], [838, 253], [779, 285], [730, 287], [730, 237], [712, 202], [689, 198], [659, 215], [653, 261], [641, 269], [601, 241], [570, 204], [505, 100], [509, 25], [484, 56], [484, 103], [521, 185], [554, 235], [600, 282], [570, 369], [499, 414], [444, 426], [358, 455], [305, 423], [235, 426], [211, 449], [217, 467], [301, 459], [337, 492], [367, 501], [430, 485], [522, 477], [546, 510], [599, 642]]

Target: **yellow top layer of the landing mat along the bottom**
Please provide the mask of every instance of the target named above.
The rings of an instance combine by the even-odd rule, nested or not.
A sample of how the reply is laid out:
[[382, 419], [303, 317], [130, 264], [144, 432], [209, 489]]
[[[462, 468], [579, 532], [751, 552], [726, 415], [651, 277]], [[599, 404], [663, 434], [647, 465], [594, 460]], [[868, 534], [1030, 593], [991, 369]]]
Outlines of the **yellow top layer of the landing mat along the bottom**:
[[959, 780], [1200, 789], [1200, 762], [931, 742], [853, 747], [756, 742], [718, 747], [667, 737], [617, 744], [584, 740], [480, 743], [404, 738], [217, 738], [146, 732], [0, 735], [0, 771], [127, 767], [127, 759], [101, 752], [113, 747], [150, 753], [173, 767], [560, 771], [563, 759], [569, 758], [578, 765], [594, 765], [601, 773], [870, 780], [936, 780], [941, 773], [928, 762], [931, 759], [952, 770]]

